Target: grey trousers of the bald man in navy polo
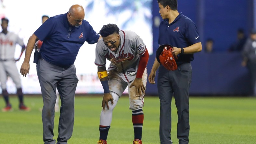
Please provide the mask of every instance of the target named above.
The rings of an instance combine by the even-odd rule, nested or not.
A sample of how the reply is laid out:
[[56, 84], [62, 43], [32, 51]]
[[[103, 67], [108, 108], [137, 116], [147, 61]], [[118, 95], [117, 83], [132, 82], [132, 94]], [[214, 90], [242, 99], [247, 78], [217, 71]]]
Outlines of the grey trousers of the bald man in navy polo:
[[74, 98], [78, 83], [76, 68], [74, 65], [62, 68], [40, 59], [36, 70], [44, 102], [42, 110], [43, 140], [45, 144], [55, 144], [53, 127], [57, 88], [61, 100], [57, 144], [67, 144], [74, 126]]

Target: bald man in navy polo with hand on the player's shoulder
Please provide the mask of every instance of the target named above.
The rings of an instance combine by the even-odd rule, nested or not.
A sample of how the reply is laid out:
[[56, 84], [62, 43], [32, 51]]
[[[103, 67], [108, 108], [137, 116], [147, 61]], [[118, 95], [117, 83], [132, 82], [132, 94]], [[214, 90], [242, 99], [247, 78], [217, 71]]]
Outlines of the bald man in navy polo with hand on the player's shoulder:
[[20, 73], [29, 73], [30, 57], [35, 42], [44, 41], [40, 49], [36, 70], [43, 96], [43, 140], [45, 144], [55, 144], [53, 139], [54, 106], [56, 88], [58, 89], [61, 108], [58, 125], [57, 144], [67, 144], [73, 132], [74, 97], [78, 83], [74, 62], [80, 47], [86, 41], [96, 43], [101, 37], [84, 20], [84, 9], [73, 5], [66, 14], [49, 18], [29, 38], [25, 59]]

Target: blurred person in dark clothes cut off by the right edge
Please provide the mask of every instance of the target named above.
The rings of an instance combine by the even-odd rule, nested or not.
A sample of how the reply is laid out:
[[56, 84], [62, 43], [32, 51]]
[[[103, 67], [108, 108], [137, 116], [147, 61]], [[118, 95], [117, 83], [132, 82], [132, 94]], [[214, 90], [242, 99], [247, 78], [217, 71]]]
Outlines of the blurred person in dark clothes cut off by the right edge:
[[250, 71], [251, 88], [253, 96], [256, 96], [256, 29], [250, 31], [250, 37], [244, 45], [242, 56], [242, 66], [246, 66]]

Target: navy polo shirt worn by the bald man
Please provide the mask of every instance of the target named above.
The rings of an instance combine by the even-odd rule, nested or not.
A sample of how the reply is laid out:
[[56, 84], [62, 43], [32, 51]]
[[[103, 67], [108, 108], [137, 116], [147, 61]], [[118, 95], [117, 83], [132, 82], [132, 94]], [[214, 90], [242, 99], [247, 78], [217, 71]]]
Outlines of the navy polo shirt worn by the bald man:
[[85, 41], [94, 44], [99, 39], [99, 35], [86, 20], [83, 20], [79, 27], [70, 26], [67, 14], [47, 19], [34, 32], [41, 41], [44, 41], [40, 48], [41, 57], [60, 67], [74, 64], [78, 51]]

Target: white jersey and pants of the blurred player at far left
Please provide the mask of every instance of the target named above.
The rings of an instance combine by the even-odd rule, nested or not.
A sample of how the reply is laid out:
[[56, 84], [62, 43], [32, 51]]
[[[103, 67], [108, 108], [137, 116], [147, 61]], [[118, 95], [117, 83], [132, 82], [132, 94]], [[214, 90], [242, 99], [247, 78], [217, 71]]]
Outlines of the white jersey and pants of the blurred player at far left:
[[21, 88], [20, 75], [14, 59], [16, 43], [20, 46], [24, 45], [23, 40], [17, 34], [9, 31], [7, 34], [0, 33], [0, 82], [2, 89], [6, 89], [6, 73], [12, 78], [16, 88]]

